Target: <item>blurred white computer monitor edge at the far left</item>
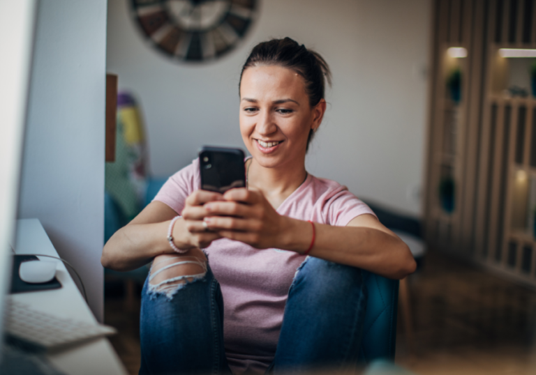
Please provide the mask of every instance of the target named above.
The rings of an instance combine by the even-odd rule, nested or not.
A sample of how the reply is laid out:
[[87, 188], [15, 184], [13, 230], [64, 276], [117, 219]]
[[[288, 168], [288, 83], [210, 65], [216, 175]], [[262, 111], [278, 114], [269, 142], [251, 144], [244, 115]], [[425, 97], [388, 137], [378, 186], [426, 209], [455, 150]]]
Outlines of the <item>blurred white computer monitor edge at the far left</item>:
[[11, 277], [35, 20], [35, 0], [0, 0], [0, 338]]

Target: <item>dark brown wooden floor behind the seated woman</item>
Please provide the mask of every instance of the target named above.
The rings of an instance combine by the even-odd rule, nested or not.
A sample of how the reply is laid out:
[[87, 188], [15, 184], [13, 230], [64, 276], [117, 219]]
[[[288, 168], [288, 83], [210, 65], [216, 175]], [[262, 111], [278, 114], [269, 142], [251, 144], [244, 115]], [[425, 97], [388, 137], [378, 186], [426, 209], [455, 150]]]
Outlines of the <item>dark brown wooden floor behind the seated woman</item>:
[[[409, 281], [413, 340], [408, 347], [399, 320], [398, 365], [422, 375], [536, 374], [536, 291], [438, 253]], [[119, 330], [110, 341], [137, 374], [140, 300], [127, 307], [121, 284], [105, 290], [105, 323]]]

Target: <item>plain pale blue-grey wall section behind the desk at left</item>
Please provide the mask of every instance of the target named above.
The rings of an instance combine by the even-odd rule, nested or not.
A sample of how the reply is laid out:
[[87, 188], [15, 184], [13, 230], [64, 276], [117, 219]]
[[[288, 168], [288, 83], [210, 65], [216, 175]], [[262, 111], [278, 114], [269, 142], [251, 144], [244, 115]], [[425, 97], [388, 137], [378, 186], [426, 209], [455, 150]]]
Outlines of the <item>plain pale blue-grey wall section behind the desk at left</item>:
[[106, 12], [106, 0], [40, 2], [19, 208], [78, 270], [99, 321]]

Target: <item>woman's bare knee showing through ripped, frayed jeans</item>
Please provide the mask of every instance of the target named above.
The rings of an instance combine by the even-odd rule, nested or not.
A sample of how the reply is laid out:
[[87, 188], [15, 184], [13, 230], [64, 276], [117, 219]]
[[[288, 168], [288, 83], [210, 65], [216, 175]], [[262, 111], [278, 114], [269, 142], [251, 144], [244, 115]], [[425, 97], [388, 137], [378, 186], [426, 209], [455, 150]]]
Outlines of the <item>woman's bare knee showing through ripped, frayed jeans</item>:
[[207, 257], [200, 249], [186, 254], [163, 254], [156, 257], [149, 274], [149, 291], [168, 297], [186, 284], [201, 280], [207, 274]]

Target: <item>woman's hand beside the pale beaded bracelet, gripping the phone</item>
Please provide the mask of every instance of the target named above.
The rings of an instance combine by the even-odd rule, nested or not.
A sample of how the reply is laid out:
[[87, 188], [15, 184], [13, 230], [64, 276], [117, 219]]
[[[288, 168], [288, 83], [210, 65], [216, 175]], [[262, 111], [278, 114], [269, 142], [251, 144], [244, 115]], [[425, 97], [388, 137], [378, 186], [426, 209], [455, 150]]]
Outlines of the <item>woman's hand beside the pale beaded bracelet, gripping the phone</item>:
[[223, 195], [207, 190], [196, 190], [186, 198], [181, 213], [184, 225], [175, 225], [173, 228], [173, 238], [179, 249], [186, 250], [193, 247], [202, 249], [222, 237], [214, 231], [207, 231], [203, 225], [203, 219], [209, 215], [204, 204], [212, 201], [223, 201]]

